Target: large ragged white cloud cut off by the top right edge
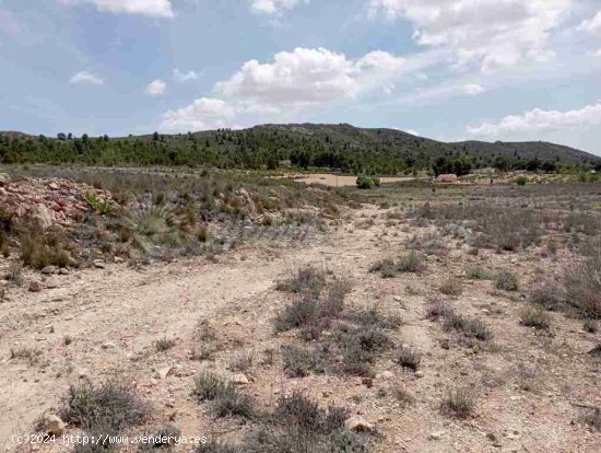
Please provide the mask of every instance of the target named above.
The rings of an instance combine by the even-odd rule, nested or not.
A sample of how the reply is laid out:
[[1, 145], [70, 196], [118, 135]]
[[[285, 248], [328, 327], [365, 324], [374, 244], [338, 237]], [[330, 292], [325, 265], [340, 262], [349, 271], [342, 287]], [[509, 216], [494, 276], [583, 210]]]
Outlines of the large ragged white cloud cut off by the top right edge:
[[404, 19], [425, 46], [448, 47], [458, 63], [483, 71], [547, 59], [550, 32], [575, 0], [369, 0], [369, 14]]

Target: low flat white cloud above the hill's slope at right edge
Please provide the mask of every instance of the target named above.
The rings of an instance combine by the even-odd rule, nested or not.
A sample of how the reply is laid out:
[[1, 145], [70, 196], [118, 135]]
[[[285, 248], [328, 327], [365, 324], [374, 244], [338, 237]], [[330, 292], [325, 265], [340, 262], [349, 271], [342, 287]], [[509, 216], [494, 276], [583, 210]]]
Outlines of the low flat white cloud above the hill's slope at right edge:
[[486, 139], [516, 138], [541, 132], [586, 129], [599, 125], [601, 125], [601, 102], [567, 112], [533, 108], [522, 115], [506, 116], [499, 123], [468, 126], [468, 133]]

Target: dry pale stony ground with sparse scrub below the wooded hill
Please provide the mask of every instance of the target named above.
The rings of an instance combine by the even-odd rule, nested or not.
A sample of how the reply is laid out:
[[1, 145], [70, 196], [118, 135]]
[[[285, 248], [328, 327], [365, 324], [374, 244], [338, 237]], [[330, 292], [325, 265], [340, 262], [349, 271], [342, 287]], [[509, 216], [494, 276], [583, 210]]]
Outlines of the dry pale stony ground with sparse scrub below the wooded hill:
[[599, 184], [4, 171], [7, 451], [601, 451]]

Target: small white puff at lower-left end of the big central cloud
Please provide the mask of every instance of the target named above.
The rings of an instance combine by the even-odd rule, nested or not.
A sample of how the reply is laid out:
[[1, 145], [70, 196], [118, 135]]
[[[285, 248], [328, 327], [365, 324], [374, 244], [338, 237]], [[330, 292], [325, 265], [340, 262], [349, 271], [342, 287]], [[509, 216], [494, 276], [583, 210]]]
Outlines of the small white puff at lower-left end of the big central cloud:
[[187, 132], [228, 127], [236, 108], [222, 100], [201, 97], [191, 105], [163, 115], [160, 130]]

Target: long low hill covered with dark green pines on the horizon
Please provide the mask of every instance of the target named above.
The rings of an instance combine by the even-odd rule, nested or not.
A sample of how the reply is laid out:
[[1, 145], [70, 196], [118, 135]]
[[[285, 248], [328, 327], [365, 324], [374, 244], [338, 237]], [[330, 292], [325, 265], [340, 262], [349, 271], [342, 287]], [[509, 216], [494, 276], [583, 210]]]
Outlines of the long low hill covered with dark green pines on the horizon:
[[[446, 143], [396, 129], [340, 125], [263, 125], [179, 135], [57, 138], [0, 132], [4, 163], [83, 163], [92, 165], [212, 165], [275, 169], [290, 160], [299, 167], [340, 169], [349, 173], [396, 174], [433, 169], [467, 173], [471, 169], [554, 170], [558, 165], [594, 167], [601, 158], [547, 142]], [[544, 166], [543, 166], [544, 165]]]

